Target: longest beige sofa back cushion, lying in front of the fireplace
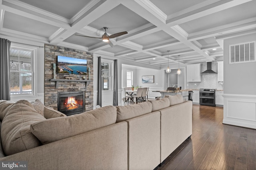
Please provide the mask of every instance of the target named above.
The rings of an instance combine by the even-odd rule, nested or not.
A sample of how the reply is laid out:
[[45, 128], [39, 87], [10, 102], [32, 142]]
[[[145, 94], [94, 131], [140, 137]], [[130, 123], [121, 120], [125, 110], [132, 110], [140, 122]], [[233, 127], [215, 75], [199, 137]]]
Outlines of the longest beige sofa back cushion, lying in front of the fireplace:
[[42, 144], [47, 144], [114, 123], [116, 123], [116, 107], [105, 106], [76, 115], [33, 123], [31, 131]]

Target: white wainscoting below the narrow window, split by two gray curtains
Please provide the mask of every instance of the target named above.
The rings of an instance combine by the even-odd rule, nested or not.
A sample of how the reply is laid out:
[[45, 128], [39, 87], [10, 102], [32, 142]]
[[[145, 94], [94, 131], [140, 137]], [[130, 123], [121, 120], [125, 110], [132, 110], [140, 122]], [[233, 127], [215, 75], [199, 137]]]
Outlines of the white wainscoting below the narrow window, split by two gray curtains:
[[[93, 109], [98, 104], [98, 90], [93, 91]], [[102, 107], [113, 105], [113, 91], [102, 92]], [[118, 106], [122, 106], [122, 89], [118, 90]]]

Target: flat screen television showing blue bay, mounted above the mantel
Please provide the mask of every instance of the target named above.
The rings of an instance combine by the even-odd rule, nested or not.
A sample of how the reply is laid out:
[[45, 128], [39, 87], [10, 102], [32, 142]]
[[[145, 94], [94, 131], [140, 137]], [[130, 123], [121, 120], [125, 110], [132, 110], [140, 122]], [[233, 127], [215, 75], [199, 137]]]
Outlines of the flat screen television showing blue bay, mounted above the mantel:
[[59, 74], [87, 74], [87, 60], [64, 57], [58, 55], [58, 73]]

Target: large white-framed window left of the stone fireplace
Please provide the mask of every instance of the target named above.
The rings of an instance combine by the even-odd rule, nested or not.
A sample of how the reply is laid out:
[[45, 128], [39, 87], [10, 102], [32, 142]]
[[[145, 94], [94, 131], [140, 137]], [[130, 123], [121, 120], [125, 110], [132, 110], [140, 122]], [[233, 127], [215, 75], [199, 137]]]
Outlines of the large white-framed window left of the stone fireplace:
[[11, 95], [34, 95], [34, 49], [10, 47]]

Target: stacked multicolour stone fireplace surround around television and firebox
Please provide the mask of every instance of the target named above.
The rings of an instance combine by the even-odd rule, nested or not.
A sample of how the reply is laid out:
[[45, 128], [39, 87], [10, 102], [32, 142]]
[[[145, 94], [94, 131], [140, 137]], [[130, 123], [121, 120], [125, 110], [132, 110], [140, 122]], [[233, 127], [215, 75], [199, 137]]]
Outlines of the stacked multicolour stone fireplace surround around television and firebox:
[[[87, 66], [90, 67], [90, 81], [82, 81], [82, 75], [57, 74], [56, 80], [51, 81], [53, 77], [53, 63], [57, 64], [57, 56], [73, 57], [78, 59], [87, 59]], [[72, 76], [74, 79], [65, 81], [66, 76]], [[88, 79], [88, 75], [86, 76]], [[64, 80], [64, 81], [62, 81]], [[44, 105], [58, 109], [58, 92], [77, 92], [85, 93], [85, 111], [93, 109], [93, 54], [82, 50], [59, 47], [55, 45], [44, 45]]]

